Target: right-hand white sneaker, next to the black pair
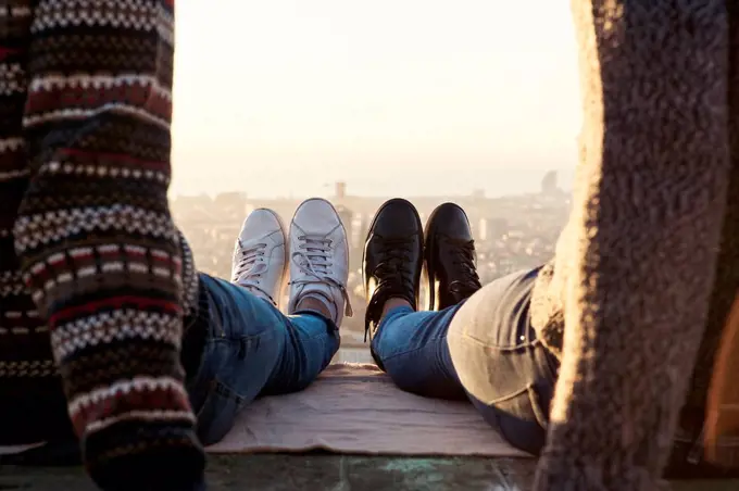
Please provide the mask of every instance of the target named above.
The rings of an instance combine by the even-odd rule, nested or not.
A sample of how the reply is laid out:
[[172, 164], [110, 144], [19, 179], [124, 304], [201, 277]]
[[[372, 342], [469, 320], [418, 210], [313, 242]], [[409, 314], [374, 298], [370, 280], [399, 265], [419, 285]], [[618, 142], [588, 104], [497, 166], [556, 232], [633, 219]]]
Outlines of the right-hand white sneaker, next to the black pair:
[[326, 200], [313, 198], [298, 206], [290, 224], [290, 302], [295, 314], [305, 298], [323, 302], [337, 327], [343, 316], [352, 316], [347, 279], [349, 244], [336, 209]]

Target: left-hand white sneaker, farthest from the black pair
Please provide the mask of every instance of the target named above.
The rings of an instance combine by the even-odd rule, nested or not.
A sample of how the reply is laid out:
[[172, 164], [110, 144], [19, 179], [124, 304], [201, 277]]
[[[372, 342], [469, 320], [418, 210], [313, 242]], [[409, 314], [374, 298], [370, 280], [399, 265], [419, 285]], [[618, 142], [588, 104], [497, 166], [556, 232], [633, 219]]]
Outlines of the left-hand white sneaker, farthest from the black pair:
[[278, 306], [287, 273], [285, 227], [272, 210], [258, 209], [236, 239], [231, 282]]

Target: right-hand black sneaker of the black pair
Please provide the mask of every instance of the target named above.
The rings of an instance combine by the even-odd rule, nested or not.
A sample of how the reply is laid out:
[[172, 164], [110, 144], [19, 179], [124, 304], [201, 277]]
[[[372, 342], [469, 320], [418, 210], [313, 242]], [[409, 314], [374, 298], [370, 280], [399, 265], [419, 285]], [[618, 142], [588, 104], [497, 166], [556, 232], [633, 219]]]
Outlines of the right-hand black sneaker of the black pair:
[[439, 205], [426, 223], [424, 261], [429, 310], [456, 305], [481, 288], [467, 215], [454, 203]]

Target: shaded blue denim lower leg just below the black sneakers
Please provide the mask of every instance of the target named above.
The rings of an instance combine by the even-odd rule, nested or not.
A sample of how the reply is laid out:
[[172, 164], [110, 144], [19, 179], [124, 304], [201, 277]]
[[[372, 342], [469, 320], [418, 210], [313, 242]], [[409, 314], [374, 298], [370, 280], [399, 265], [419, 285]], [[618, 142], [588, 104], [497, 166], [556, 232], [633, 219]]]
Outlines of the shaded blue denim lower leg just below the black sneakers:
[[465, 399], [447, 344], [447, 330], [460, 305], [439, 312], [392, 309], [372, 339], [372, 350], [402, 390], [439, 399]]

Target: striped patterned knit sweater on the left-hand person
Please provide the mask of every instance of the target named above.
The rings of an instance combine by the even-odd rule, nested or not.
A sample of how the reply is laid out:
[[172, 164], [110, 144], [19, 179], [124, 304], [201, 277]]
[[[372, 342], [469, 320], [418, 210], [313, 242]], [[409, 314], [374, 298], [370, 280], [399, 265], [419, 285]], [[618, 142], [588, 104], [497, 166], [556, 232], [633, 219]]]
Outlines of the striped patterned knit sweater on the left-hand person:
[[166, 199], [173, 3], [0, 4], [0, 443], [73, 428], [104, 489], [204, 466]]

